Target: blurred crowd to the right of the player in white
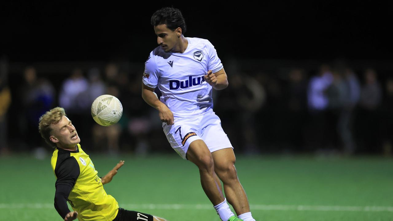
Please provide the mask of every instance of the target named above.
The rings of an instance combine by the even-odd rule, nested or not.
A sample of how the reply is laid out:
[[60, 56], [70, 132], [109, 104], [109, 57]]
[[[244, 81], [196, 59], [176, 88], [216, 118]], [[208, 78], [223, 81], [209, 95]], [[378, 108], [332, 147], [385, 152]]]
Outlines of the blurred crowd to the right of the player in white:
[[[315, 70], [230, 72], [215, 110], [244, 153], [391, 155], [393, 77], [343, 61]], [[278, 70], [278, 68], [277, 68]]]

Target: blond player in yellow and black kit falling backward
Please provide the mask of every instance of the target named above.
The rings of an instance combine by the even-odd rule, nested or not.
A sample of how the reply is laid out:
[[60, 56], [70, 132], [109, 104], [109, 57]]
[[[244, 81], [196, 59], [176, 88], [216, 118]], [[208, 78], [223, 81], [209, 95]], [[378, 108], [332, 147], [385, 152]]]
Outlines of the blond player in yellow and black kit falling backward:
[[[120, 161], [107, 175], [100, 178], [94, 164], [79, 142], [81, 139], [61, 107], [49, 110], [40, 117], [39, 132], [44, 140], [55, 146], [51, 166], [57, 178], [55, 209], [65, 221], [165, 221], [136, 211], [119, 208], [114, 197], [108, 195], [103, 184], [110, 182], [124, 161]], [[73, 208], [68, 209], [67, 201]]]

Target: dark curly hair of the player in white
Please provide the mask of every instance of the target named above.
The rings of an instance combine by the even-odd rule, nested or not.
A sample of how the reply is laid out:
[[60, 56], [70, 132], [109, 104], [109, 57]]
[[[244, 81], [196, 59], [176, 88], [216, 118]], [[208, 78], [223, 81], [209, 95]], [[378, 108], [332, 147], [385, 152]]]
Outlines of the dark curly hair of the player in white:
[[171, 30], [180, 27], [182, 33], [187, 30], [182, 12], [174, 7], [163, 7], [154, 12], [151, 17], [151, 25], [158, 26], [160, 24], [166, 24], [167, 28]]

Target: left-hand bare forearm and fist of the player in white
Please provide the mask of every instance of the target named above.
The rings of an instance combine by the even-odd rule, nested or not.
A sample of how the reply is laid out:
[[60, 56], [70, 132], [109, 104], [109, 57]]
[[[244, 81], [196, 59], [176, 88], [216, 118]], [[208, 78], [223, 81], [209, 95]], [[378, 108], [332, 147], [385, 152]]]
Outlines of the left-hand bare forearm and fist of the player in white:
[[145, 100], [145, 102], [154, 107], [155, 109], [158, 110], [160, 120], [161, 122], [167, 123], [167, 125], [173, 125], [174, 118], [173, 118], [173, 113], [167, 105], [162, 103], [156, 95], [153, 93], [154, 88], [147, 87], [143, 82], [142, 82], [142, 98]]

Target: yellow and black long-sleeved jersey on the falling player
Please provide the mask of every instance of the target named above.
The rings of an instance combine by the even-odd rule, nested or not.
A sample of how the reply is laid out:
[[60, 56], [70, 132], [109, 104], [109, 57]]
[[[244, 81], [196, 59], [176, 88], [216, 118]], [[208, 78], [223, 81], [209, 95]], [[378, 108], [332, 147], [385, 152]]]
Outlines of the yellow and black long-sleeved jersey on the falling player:
[[66, 201], [78, 212], [80, 221], [115, 219], [118, 202], [105, 192], [92, 160], [81, 145], [75, 151], [56, 148], [51, 166], [57, 178], [55, 208], [62, 219], [70, 212]]

